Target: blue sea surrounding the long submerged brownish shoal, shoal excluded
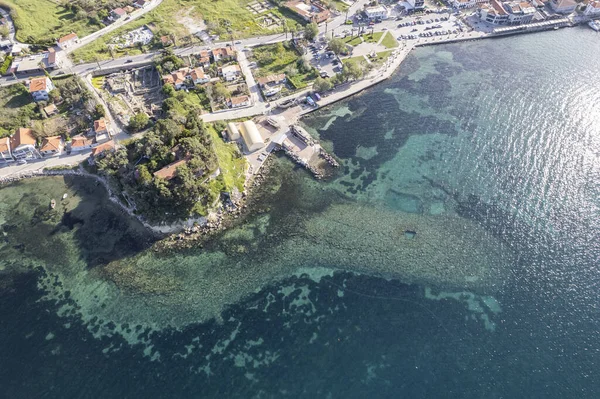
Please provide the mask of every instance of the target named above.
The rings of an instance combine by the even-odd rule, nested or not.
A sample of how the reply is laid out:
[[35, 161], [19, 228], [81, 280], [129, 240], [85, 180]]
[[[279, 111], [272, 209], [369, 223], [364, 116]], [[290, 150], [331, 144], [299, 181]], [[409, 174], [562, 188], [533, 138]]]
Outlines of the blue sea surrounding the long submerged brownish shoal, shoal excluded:
[[514, 254], [498, 281], [300, 274], [131, 343], [59, 316], [43, 268], [3, 274], [0, 397], [600, 397], [599, 61], [583, 29], [424, 48], [306, 120], [344, 161], [322, 184], [477, 223]]

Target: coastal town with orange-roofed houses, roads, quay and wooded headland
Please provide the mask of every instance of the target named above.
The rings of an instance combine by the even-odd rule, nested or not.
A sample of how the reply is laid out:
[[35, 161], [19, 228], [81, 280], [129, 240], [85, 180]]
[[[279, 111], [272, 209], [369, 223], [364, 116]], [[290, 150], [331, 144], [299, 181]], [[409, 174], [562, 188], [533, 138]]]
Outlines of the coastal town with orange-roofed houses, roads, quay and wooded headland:
[[169, 221], [235, 209], [276, 151], [333, 174], [301, 117], [389, 78], [417, 47], [600, 29], [593, 0], [249, 1], [255, 34], [179, 15], [187, 36], [145, 22], [161, 0], [115, 4], [76, 4], [99, 29], [43, 44], [21, 41], [24, 10], [0, 8], [0, 181], [93, 175], [156, 223], [165, 209], [181, 210]]

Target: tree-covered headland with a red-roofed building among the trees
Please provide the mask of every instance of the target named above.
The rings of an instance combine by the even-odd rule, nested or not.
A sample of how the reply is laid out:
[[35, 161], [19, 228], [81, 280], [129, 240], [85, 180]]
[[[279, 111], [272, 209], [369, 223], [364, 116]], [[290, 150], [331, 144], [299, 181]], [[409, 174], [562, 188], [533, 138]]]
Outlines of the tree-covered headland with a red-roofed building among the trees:
[[[222, 191], [243, 189], [245, 160], [236, 146], [225, 144], [214, 127], [202, 122], [198, 107], [186, 106], [175, 94], [163, 108], [167, 118], [142, 138], [99, 156], [97, 171], [151, 221], [206, 215]], [[221, 173], [215, 176], [217, 168]]]

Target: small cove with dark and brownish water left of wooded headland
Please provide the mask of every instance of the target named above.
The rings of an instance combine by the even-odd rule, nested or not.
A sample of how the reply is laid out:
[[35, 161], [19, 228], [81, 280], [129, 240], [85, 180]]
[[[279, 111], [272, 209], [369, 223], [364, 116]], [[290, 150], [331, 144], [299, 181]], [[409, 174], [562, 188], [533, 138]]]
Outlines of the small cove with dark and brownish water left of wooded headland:
[[[88, 267], [95, 267], [135, 254], [154, 242], [152, 234], [124, 214], [92, 179], [29, 179], [11, 184], [3, 192], [16, 199], [6, 202], [5, 247], [41, 261], [69, 264], [67, 242], [73, 242]], [[67, 193], [64, 199], [63, 193]], [[50, 199], [56, 201], [54, 209]]]

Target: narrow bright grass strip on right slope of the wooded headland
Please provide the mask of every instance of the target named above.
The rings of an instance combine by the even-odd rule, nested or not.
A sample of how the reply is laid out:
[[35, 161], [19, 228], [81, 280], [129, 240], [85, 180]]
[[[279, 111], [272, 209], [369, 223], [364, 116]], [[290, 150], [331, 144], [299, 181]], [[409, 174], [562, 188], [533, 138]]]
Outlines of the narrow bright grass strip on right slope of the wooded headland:
[[221, 169], [224, 190], [231, 192], [236, 187], [244, 191], [246, 180], [246, 159], [240, 154], [235, 143], [225, 143], [213, 126], [207, 126], [213, 139], [214, 150], [217, 154], [219, 168]]

